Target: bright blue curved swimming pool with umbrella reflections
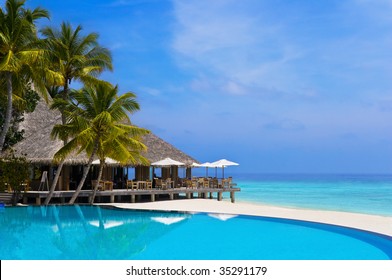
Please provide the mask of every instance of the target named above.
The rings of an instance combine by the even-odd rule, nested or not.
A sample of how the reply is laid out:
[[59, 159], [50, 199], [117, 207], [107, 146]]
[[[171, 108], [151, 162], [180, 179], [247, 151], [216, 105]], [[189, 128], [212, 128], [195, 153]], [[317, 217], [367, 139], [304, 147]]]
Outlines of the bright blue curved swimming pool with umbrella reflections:
[[0, 259], [388, 260], [392, 238], [276, 218], [6, 207], [0, 212]]

